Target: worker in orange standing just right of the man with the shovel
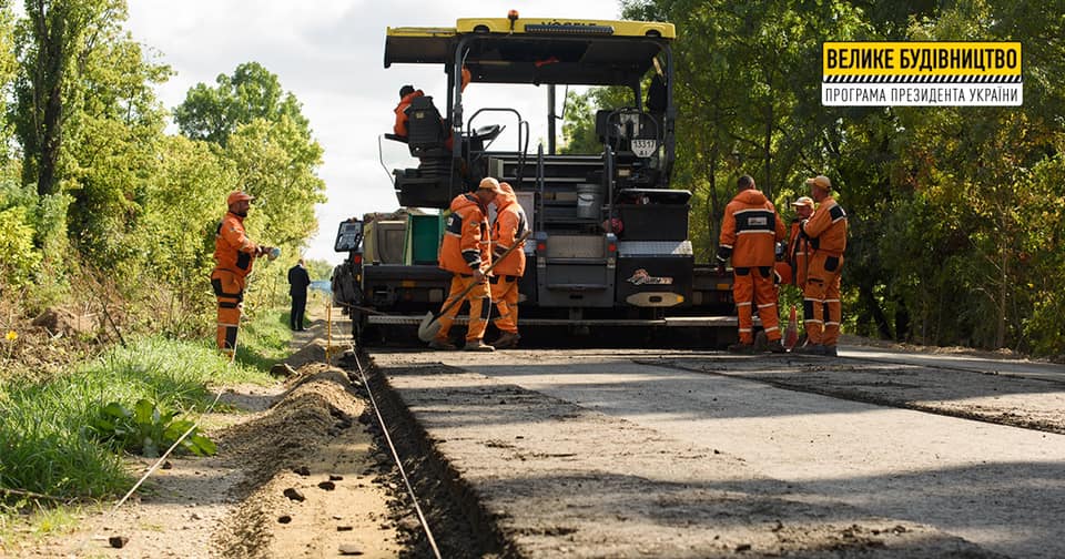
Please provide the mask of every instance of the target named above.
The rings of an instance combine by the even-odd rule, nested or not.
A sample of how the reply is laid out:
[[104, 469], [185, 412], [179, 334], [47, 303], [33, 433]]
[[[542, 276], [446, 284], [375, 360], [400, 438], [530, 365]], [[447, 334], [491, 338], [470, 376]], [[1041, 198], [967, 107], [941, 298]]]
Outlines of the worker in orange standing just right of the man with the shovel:
[[[499, 183], [501, 194], [496, 196], [496, 222], [491, 226], [491, 257], [498, 258], [529, 228], [529, 221], [525, 210], [518, 204], [514, 189], [507, 183]], [[499, 337], [493, 342], [493, 347], [504, 349], [517, 347], [518, 339], [518, 282], [525, 275], [525, 241], [510, 252], [506, 258], [498, 261], [488, 278], [491, 288], [491, 302], [495, 303], [499, 317], [494, 321], [499, 328]]]

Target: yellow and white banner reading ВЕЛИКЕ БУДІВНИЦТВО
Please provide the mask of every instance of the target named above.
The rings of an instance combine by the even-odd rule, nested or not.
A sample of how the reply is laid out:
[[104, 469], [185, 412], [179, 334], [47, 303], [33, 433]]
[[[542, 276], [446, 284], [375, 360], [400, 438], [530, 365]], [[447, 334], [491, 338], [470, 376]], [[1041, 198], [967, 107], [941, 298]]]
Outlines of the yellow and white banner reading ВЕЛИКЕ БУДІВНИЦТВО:
[[1020, 42], [826, 42], [825, 106], [1020, 106]]

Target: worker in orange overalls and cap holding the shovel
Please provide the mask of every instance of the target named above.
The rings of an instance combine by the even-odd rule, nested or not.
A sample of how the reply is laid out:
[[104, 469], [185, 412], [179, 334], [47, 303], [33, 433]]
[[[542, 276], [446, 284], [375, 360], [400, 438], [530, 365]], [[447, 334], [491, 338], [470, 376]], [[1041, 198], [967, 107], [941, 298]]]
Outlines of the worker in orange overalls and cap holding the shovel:
[[[480, 181], [475, 192], [467, 192], [452, 200], [452, 214], [447, 216], [444, 242], [440, 244], [440, 267], [454, 274], [452, 288], [444, 301], [447, 306], [470, 284], [475, 287], [466, 294], [469, 301], [469, 325], [466, 328], [466, 345], [469, 352], [491, 352], [495, 348], [485, 344], [485, 329], [488, 327], [488, 314], [491, 299], [488, 292], [488, 276], [485, 270], [491, 265], [491, 250], [488, 230], [488, 204], [503, 191], [499, 182], [488, 176]], [[447, 333], [455, 323], [463, 304], [453, 305], [438, 318], [440, 331], [429, 342], [434, 349], [456, 349], [447, 339]]]

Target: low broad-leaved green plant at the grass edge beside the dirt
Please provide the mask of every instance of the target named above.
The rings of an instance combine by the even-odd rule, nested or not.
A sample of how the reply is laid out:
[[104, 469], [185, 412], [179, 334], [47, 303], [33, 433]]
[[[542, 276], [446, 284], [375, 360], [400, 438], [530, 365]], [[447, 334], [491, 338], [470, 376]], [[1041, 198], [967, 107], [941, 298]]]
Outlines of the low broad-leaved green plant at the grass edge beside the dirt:
[[[149, 458], [159, 457], [181, 439], [178, 449], [196, 456], [213, 456], [217, 446], [199, 433], [195, 423], [178, 419], [178, 413], [160, 409], [152, 402], [141, 398], [133, 409], [118, 402], [101, 407], [85, 427], [88, 433], [114, 448], [135, 453]], [[182, 438], [183, 435], [189, 435]]]

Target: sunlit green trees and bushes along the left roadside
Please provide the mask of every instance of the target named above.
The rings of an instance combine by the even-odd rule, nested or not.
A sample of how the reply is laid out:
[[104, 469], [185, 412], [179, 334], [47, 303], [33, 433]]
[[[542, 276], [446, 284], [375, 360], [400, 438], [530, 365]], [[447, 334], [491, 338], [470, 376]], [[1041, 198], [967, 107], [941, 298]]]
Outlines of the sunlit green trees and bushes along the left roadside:
[[256, 62], [163, 106], [173, 71], [126, 19], [124, 0], [0, 0], [0, 296], [95, 297], [131, 326], [199, 333], [226, 193], [256, 196], [252, 238], [294, 260], [324, 201], [322, 146]]

